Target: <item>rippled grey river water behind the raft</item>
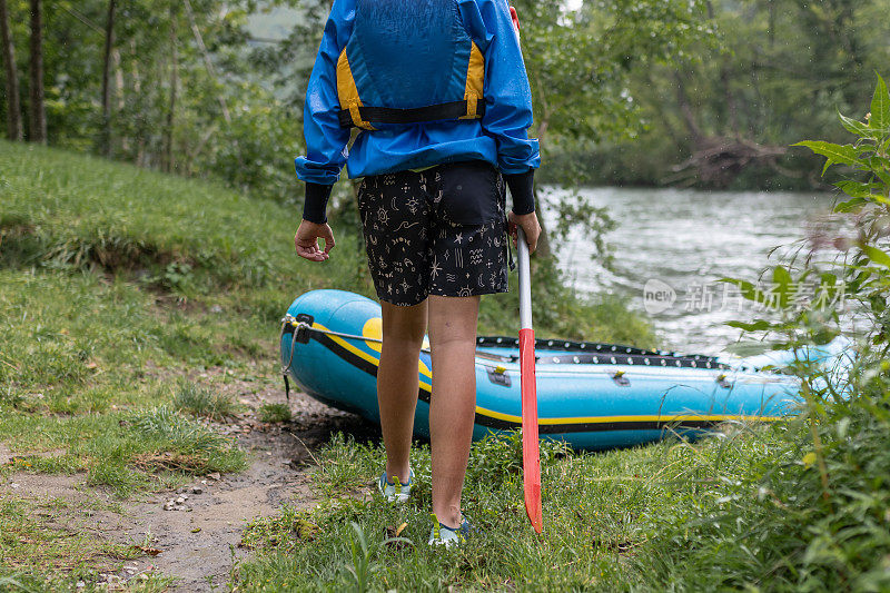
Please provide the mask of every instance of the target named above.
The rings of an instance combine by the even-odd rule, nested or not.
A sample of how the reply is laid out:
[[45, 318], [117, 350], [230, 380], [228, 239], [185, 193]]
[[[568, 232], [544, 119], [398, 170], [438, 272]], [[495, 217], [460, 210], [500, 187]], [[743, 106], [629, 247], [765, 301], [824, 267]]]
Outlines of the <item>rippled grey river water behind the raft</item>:
[[592, 243], [574, 233], [557, 253], [570, 284], [582, 293], [630, 297], [631, 307], [651, 318], [662, 347], [704, 354], [720, 354], [739, 337], [726, 320], [753, 316], [746, 305], [740, 312], [738, 294], [715, 280], [756, 281], [780, 260], [780, 251], [770, 251], [803, 238], [833, 204], [831, 195], [818, 192], [606, 187], [581, 195], [616, 221], [606, 235], [614, 269], [600, 265]]

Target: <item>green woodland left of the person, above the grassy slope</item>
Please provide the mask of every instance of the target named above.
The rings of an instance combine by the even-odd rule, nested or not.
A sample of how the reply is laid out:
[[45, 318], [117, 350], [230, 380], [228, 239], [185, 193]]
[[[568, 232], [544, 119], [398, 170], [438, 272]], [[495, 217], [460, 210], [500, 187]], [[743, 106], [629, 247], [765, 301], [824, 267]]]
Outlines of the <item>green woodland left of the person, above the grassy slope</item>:
[[[246, 27], [258, 2], [118, 2], [106, 135], [100, 99], [108, 3], [46, 2], [50, 142], [295, 201], [291, 157], [283, 151], [298, 150], [299, 119], [255, 75]], [[13, 0], [10, 13], [27, 86], [28, 3]]]

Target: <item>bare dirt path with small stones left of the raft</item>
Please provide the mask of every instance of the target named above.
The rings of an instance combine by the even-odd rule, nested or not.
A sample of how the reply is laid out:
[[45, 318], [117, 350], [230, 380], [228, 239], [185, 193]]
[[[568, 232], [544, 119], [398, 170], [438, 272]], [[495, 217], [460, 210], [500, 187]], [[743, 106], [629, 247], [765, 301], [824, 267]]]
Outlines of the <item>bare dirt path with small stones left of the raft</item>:
[[[250, 387], [234, 382], [224, 391], [233, 391], [243, 405], [253, 409], [264, 402], [284, 402], [280, 389], [270, 384], [256, 391], [255, 384]], [[71, 510], [90, 507], [90, 513], [60, 512], [46, 521], [68, 528], [77, 525], [99, 538], [159, 551], [155, 556], [126, 562], [116, 574], [102, 573], [100, 581], [120, 583], [156, 572], [176, 580], [172, 591], [226, 590], [233, 563], [247, 554], [238, 544], [250, 520], [274, 514], [285, 504], [305, 507], [314, 503], [309, 488], [312, 449], [334, 431], [367, 432], [356, 416], [304, 394], [291, 394], [290, 408], [294, 418], [286, 424], [263, 424], [247, 412], [231, 424], [216, 425], [219, 432], [236, 435], [249, 454], [250, 465], [239, 474], [211, 474], [178, 491], [144, 495], [119, 503], [119, 507], [102, 488], [85, 486], [82, 475], [17, 473], [0, 485], [0, 494], [8, 491], [32, 501], [61, 498], [71, 503]], [[165, 508], [170, 501], [175, 510]]]

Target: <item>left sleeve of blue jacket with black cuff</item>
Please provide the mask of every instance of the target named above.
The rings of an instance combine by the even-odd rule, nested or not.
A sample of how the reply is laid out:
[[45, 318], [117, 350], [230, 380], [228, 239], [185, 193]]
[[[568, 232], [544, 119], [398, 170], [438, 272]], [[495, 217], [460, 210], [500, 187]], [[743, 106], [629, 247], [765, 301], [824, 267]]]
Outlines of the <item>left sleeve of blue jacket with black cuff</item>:
[[324, 223], [332, 186], [346, 164], [349, 129], [340, 128], [337, 112], [337, 60], [352, 34], [355, 0], [335, 0], [322, 46], [309, 77], [303, 110], [306, 155], [295, 159], [297, 177], [306, 182], [304, 218]]

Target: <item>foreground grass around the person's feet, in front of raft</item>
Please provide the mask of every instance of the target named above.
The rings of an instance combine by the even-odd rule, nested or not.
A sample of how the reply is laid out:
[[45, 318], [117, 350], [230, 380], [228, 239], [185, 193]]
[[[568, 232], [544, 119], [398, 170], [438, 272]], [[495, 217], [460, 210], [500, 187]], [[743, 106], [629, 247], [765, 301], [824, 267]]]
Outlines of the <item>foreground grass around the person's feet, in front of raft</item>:
[[[725, 439], [669, 442], [604, 454], [544, 444], [541, 537], [522, 503], [520, 439], [476, 443], [464, 511], [478, 531], [462, 548], [449, 551], [426, 544], [432, 526], [428, 449], [414, 453], [417, 487], [400, 507], [372, 494], [383, 451], [342, 437], [320, 453], [315, 486], [325, 498], [317, 508], [288, 508], [247, 531], [245, 543], [261, 553], [239, 566], [238, 585], [245, 591], [352, 590], [355, 522], [368, 543], [372, 591], [661, 589], [632, 559], [653, 546], [662, 523], [685, 515], [692, 501], [715, 505], [729, 490], [722, 478], [748, 472], [763, 437], [738, 433], [731, 445]], [[701, 463], [719, 454], [722, 463]], [[385, 543], [403, 523], [407, 527], [399, 535], [408, 542]]]

